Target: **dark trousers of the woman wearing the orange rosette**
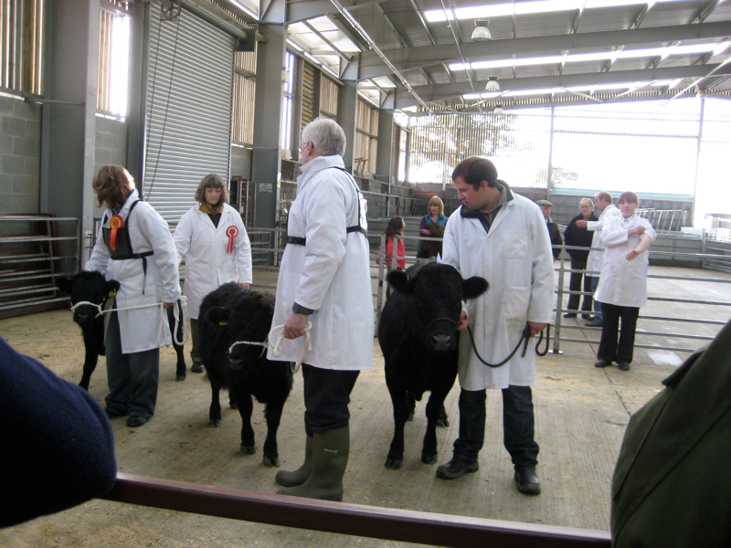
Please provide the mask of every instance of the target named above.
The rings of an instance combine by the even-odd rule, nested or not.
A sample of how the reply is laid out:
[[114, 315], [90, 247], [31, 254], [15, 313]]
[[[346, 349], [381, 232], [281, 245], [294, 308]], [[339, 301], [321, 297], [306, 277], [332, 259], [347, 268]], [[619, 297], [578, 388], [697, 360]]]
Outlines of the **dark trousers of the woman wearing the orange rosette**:
[[107, 409], [118, 415], [153, 416], [157, 402], [160, 349], [122, 353], [119, 318], [117, 312], [111, 312], [105, 350], [110, 391], [105, 398]]

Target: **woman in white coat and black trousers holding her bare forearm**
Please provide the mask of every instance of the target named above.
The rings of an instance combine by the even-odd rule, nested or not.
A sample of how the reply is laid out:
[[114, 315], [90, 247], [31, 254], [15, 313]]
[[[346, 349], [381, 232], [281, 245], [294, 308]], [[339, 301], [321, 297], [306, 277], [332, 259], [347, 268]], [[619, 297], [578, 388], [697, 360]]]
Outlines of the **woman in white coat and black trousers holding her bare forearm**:
[[597, 353], [599, 360], [594, 364], [597, 367], [607, 367], [616, 361], [622, 371], [629, 371], [632, 363], [637, 318], [640, 308], [647, 304], [647, 248], [657, 237], [650, 222], [635, 214], [639, 203], [633, 192], [622, 193], [621, 216], [609, 218], [601, 229], [606, 249], [594, 299], [601, 302], [604, 323]]

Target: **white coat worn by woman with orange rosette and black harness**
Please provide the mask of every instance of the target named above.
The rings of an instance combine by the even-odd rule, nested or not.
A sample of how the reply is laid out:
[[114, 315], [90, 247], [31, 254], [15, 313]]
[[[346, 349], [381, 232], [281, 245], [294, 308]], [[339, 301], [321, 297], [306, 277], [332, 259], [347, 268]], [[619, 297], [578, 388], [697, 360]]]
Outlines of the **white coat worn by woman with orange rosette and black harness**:
[[[178, 258], [173, 237], [170, 236], [170, 228], [164, 218], [147, 202], [141, 201], [135, 205], [131, 218], [128, 218], [130, 205], [138, 199], [137, 190], [132, 190], [119, 215], [122, 216], [124, 226], [129, 227], [132, 251], [134, 253], [154, 251], [154, 255], [147, 257], [147, 273], [143, 272], [142, 258], [111, 260], [101, 232], [101, 228], [109, 227], [113, 215], [111, 209], [107, 209], [105, 213], [106, 220], [100, 227], [96, 245], [84, 267], [86, 270], [97, 270], [105, 274], [106, 279], [120, 282], [117, 308], [175, 302], [180, 299]], [[143, 352], [160, 346], [157, 340], [161, 321], [159, 307], [119, 311], [117, 314], [120, 321], [122, 353]], [[105, 320], [107, 317], [108, 314], [105, 314]], [[164, 339], [164, 346], [173, 341], [167, 314], [162, 314], [162, 321], [164, 329], [160, 342]]]

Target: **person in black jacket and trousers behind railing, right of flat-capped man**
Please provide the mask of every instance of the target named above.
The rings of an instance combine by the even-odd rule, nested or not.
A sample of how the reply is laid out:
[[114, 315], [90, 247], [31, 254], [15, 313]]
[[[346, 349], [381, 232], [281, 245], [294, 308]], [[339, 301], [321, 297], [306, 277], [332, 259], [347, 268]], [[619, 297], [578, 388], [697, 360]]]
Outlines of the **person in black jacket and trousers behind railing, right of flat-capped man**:
[[[589, 232], [586, 228], [577, 227], [577, 221], [598, 221], [599, 219], [594, 216], [594, 204], [589, 198], [581, 198], [578, 204], [578, 208], [581, 210], [581, 214], [575, 216], [568, 223], [566, 232], [564, 232], [564, 240], [567, 246], [576, 246], [579, 248], [590, 248], [591, 238], [594, 236], [593, 232]], [[587, 269], [587, 258], [588, 249], [567, 249], [568, 255], [571, 256], [571, 269], [572, 270], [585, 270]], [[571, 272], [571, 280], [568, 283], [568, 290], [580, 291], [581, 290], [581, 277], [584, 277], [584, 291], [591, 291], [591, 277], [584, 276], [583, 272]], [[568, 311], [564, 314], [564, 318], [576, 318], [578, 310], [578, 300], [581, 295], [569, 295], [568, 297]], [[590, 318], [589, 312], [591, 311], [591, 295], [584, 295], [584, 304], [581, 306], [581, 311], [584, 312], [581, 316], [585, 320]]]

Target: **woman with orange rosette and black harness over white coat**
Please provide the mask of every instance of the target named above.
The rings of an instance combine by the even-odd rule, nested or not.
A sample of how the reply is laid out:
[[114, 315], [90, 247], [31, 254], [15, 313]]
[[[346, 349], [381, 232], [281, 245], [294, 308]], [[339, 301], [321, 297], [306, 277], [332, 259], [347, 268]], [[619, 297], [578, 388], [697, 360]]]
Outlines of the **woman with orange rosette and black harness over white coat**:
[[140, 200], [126, 169], [103, 166], [92, 187], [108, 209], [85, 269], [120, 283], [111, 305], [121, 310], [104, 316], [110, 389], [104, 411], [140, 427], [154, 415], [160, 346], [172, 343], [159, 305], [167, 309], [180, 299], [177, 253], [167, 223]]

